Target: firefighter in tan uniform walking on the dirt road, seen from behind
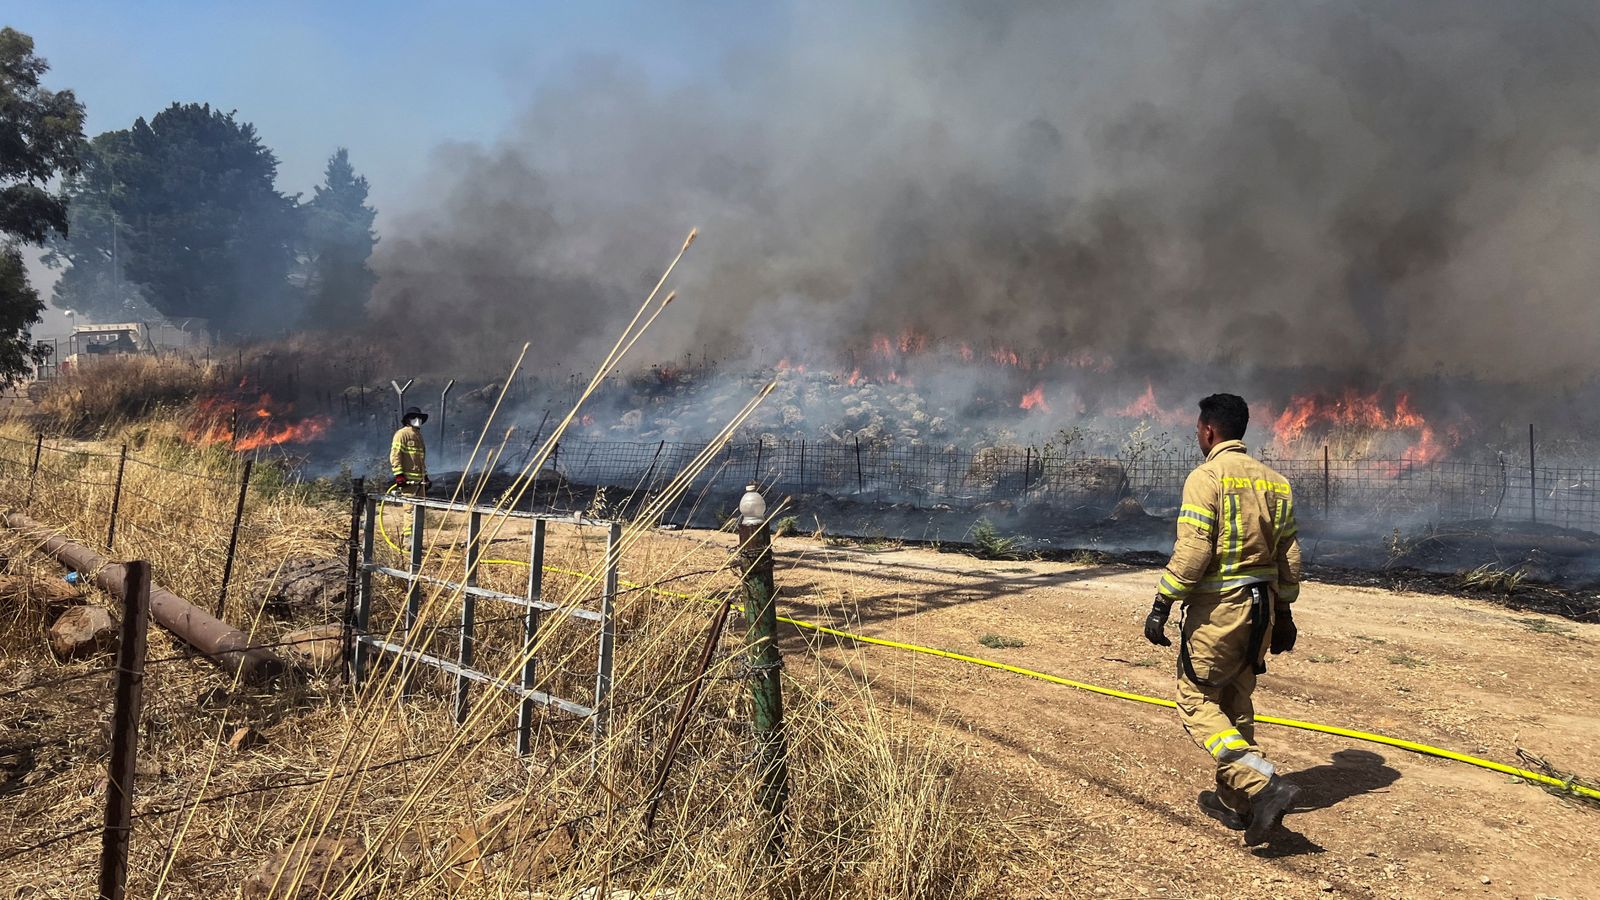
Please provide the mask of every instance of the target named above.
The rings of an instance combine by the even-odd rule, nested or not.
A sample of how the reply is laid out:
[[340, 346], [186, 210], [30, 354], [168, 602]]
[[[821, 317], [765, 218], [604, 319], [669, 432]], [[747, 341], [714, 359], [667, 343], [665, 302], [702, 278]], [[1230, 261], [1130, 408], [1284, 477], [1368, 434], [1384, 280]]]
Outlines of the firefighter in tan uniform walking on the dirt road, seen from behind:
[[1166, 617], [1182, 605], [1178, 717], [1216, 761], [1216, 793], [1200, 794], [1200, 807], [1243, 830], [1246, 844], [1261, 844], [1299, 788], [1256, 743], [1250, 695], [1267, 671], [1267, 650], [1294, 649], [1301, 554], [1288, 480], [1245, 453], [1248, 424], [1242, 397], [1200, 400], [1195, 436], [1206, 458], [1184, 482], [1178, 541], [1144, 636], [1171, 645]]

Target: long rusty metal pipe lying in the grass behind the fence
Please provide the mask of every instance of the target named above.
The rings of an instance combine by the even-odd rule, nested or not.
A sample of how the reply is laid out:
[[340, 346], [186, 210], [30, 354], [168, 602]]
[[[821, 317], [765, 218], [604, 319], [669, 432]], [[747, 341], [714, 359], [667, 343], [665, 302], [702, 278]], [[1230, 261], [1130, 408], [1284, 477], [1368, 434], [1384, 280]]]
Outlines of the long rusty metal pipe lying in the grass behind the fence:
[[[85, 575], [93, 573], [94, 583], [107, 594], [122, 597], [126, 581], [123, 564], [75, 544], [21, 512], [8, 512], [5, 524], [34, 540], [42, 552], [62, 565], [70, 565]], [[251, 647], [243, 631], [219, 621], [160, 585], [150, 585], [150, 618], [246, 682], [264, 684], [288, 671], [288, 665], [275, 653]]]

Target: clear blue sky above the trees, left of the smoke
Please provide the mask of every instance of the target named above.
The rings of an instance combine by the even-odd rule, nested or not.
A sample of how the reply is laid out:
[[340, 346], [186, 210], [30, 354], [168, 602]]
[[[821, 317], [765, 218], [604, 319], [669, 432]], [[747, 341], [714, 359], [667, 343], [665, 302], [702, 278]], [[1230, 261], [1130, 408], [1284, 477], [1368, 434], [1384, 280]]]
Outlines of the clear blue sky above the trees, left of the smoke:
[[[755, 11], [768, 10], [768, 11]], [[574, 61], [626, 59], [662, 85], [714, 75], [773, 40], [776, 6], [662, 3], [29, 2], [27, 32], [88, 107], [88, 135], [173, 101], [237, 109], [310, 194], [336, 146], [373, 183], [379, 229], [445, 141], [488, 141]]]

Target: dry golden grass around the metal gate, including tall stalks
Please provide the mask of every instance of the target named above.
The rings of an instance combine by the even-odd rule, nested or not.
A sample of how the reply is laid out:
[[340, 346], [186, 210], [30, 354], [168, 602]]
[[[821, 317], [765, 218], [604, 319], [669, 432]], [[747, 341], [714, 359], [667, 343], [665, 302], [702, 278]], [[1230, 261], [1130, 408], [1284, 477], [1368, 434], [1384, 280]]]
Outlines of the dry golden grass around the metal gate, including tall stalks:
[[[654, 296], [646, 298], [611, 357], [597, 368], [600, 375], [670, 301], [669, 295], [656, 304]], [[597, 383], [598, 375], [590, 389]], [[624, 578], [714, 602], [731, 599], [739, 578], [730, 572], [734, 559], [726, 551], [693, 538], [662, 538], [650, 522], [682, 496], [762, 397], [765, 391], [629, 524], [619, 549]], [[525, 476], [538, 471], [571, 418], [552, 431]], [[170, 469], [198, 469], [213, 480], [130, 464], [125, 490], [138, 490], [146, 506], [123, 512], [128, 536], [118, 536], [117, 556], [149, 557], [158, 581], [206, 605], [202, 599], [218, 585], [221, 533], [206, 528], [226, 522], [230, 512], [226, 500], [235, 463], [216, 452], [184, 448], [171, 424], [139, 428], [146, 431], [126, 437], [146, 458], [162, 460]], [[0, 431], [0, 437], [8, 439], [0, 440], [0, 500], [26, 506], [83, 543], [101, 543], [96, 535], [104, 530], [106, 472], [115, 460], [90, 455], [90, 447], [54, 455], [32, 479], [29, 498], [32, 445], [14, 428]], [[93, 450], [106, 453], [106, 447]], [[474, 458], [486, 469], [496, 455], [494, 440], [486, 437]], [[133, 477], [134, 469], [146, 471]], [[339, 551], [344, 498], [318, 500], [315, 490], [282, 477], [261, 487], [251, 496], [237, 585], [269, 573], [291, 554]], [[478, 500], [472, 487], [462, 500]], [[506, 504], [525, 487], [526, 480], [509, 492]], [[192, 524], [174, 527], [178, 519]], [[459, 516], [432, 519], [424, 572], [464, 569], [462, 527]], [[491, 559], [518, 559], [515, 548], [526, 546], [518, 527], [499, 512], [486, 517], [482, 540]], [[13, 559], [26, 559], [21, 565], [51, 577], [48, 562], [16, 543], [13, 538], [8, 548]], [[398, 559], [382, 544], [379, 554]], [[594, 577], [603, 560], [594, 528], [552, 525], [547, 562], [586, 577], [552, 573], [544, 597], [565, 609], [592, 605]], [[496, 562], [483, 565], [478, 577], [512, 593], [526, 580], [526, 570]], [[229, 620], [262, 644], [306, 625], [270, 621], [253, 601], [235, 589]], [[448, 653], [461, 601], [459, 591], [426, 591], [416, 628], [402, 633], [395, 629], [402, 596], [389, 585], [374, 594], [371, 629], [408, 647]], [[507, 732], [515, 705], [504, 693], [475, 689], [466, 722], [458, 727], [451, 721], [450, 679], [392, 661], [374, 665], [358, 692], [342, 681], [315, 677], [251, 692], [184, 658], [170, 636], [152, 628], [130, 895], [230, 897], [269, 854], [325, 836], [357, 841], [360, 865], [331, 878], [291, 866], [272, 882], [272, 897], [573, 897], [586, 890], [600, 897], [610, 890], [662, 890], [659, 895], [730, 898], [997, 895], [1013, 852], [1011, 836], [984, 804], [962, 801], [958, 751], [926, 729], [902, 727], [893, 709], [877, 703], [867, 682], [826, 674], [824, 666], [816, 666], [814, 674], [810, 666], [786, 669], [789, 828], [784, 855], [765, 854], [752, 802], [754, 741], [738, 618], [709, 673], [664, 794], [664, 812], [653, 830], [642, 826], [646, 791], [690, 689], [714, 602], [626, 591], [616, 610], [616, 673], [605, 740], [592, 745], [586, 721], [544, 713], [526, 757], [514, 753]], [[526, 652], [502, 609], [480, 602], [477, 665], [512, 677]], [[584, 700], [581, 692], [594, 677], [592, 628], [586, 634], [581, 623], [562, 620], [560, 613], [546, 613], [547, 625], [531, 649], [539, 684]], [[56, 666], [43, 652], [37, 623], [14, 623], [14, 629], [34, 637], [18, 641], [18, 653], [6, 657], [0, 677], [16, 687], [3, 690], [106, 665]], [[0, 809], [0, 833], [6, 834], [0, 895], [85, 895], [93, 889], [99, 804], [94, 781], [106, 746], [99, 724], [109, 716], [98, 687], [102, 677], [13, 695], [22, 698], [29, 714], [16, 719], [19, 733], [0, 733], [0, 740], [61, 753], [46, 765], [34, 765], [24, 786]], [[267, 743], [245, 753], [222, 746], [238, 724], [254, 724]], [[485, 809], [506, 801], [523, 812], [482, 823], [477, 841], [486, 854], [477, 862], [467, 858], [456, 836]], [[74, 839], [16, 852], [75, 830], [82, 834]], [[557, 833], [570, 841], [558, 852], [546, 841]]]

